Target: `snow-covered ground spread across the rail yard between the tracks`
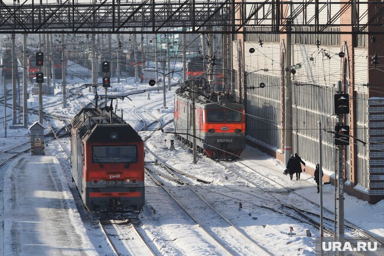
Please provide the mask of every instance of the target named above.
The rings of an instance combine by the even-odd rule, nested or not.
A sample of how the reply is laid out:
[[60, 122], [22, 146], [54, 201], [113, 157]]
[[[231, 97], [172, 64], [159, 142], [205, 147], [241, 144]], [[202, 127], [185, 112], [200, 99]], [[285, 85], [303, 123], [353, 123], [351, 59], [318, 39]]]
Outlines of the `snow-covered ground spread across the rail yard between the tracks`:
[[[71, 68], [74, 72], [80, 70], [77, 65], [72, 65]], [[175, 83], [178, 77], [175, 75], [172, 82]], [[125, 79], [122, 80], [124, 82], [112, 85], [113, 90], [116, 90], [113, 93], [126, 94], [132, 90], [153, 88], [148, 84], [134, 84], [132, 78], [127, 78], [126, 82]], [[72, 86], [79, 87], [81, 83], [84, 83], [75, 76], [68, 76], [67, 81], [70, 84], [67, 89]], [[8, 86], [10, 88], [10, 85]], [[157, 85], [155, 85], [156, 87]], [[119, 100], [117, 113], [123, 110], [124, 119], [136, 130], [139, 130], [142, 124], [133, 114], [135, 109], [139, 115], [145, 118], [149, 118], [146, 113], [151, 112], [152, 115], [162, 117], [164, 121], [172, 119], [174, 90], [175, 87], [172, 87], [171, 91], [166, 92], [167, 108], [163, 108], [163, 93], [160, 89], [131, 95], [132, 101]], [[0, 88], [0, 93], [3, 94], [3, 86]], [[87, 92], [87, 94], [89, 99], [93, 99], [93, 93]], [[55, 90], [54, 95], [43, 96], [43, 105], [60, 103], [61, 100], [61, 87], [59, 87]], [[84, 101], [84, 103], [86, 102]], [[37, 95], [31, 95], [28, 107], [38, 107]], [[62, 109], [59, 105], [44, 109], [44, 111], [73, 117], [80, 108], [77, 101], [68, 100], [66, 109]], [[11, 109], [8, 108], [7, 113], [10, 114]], [[2, 116], [4, 116], [4, 111], [0, 112], [0, 117]], [[30, 122], [38, 120], [38, 116], [35, 115], [28, 118]], [[12, 124], [12, 121], [8, 121], [8, 124]], [[56, 122], [57, 127], [62, 125], [61, 122]], [[44, 126], [49, 127], [46, 124]], [[173, 124], [170, 124], [165, 130], [172, 131], [172, 128]], [[48, 130], [45, 131], [45, 133], [47, 132]], [[140, 133], [143, 137], [149, 134], [149, 132]], [[271, 183], [267, 184], [261, 180], [262, 178], [258, 174], [249, 172], [236, 164], [229, 165], [233, 169], [232, 172], [229, 172], [210, 159], [200, 156], [198, 163], [194, 165], [191, 149], [186, 148], [179, 141], [175, 140], [176, 150], [174, 151], [162, 149], [164, 146], [169, 147], [171, 139], [174, 139], [173, 134], [158, 131], [147, 141], [147, 146], [167, 164], [211, 181], [211, 184], [205, 185], [193, 181], [191, 184], [222, 215], [274, 255], [315, 255], [314, 242], [315, 238], [319, 236], [319, 231], [308, 224], [260, 208], [260, 205], [268, 203], [265, 200], [264, 192], [238, 176], [247, 177], [260, 186], [266, 186], [265, 190], [268, 191], [276, 190], [278, 192], [277, 190], [280, 190], [281, 187]], [[5, 138], [4, 127], [0, 128], [0, 151], [9, 148], [10, 145], [28, 140], [27, 129], [7, 129], [7, 138]], [[69, 138], [61, 141], [66, 151], [69, 152]], [[150, 154], [147, 155], [150, 158]], [[310, 175], [303, 173], [300, 181], [290, 181], [289, 177], [282, 174], [284, 169], [282, 163], [258, 149], [248, 146], [239, 162], [252, 167], [263, 175], [268, 175], [286, 187], [294, 188], [303, 197], [319, 201], [316, 184]], [[0, 179], [2, 180], [0, 182], [0, 221], [3, 223], [0, 225], [0, 234], [4, 234], [0, 236], [0, 255], [113, 254], [98, 226], [81, 209], [78, 192], [71, 182], [69, 162], [58, 143], [47, 142], [44, 157], [30, 156], [29, 153], [25, 153], [11, 163], [0, 167]], [[166, 184], [175, 193], [181, 192], [180, 186], [172, 182]], [[232, 189], [232, 192], [228, 192], [229, 189]], [[239, 192], [233, 192], [233, 189], [237, 189]], [[334, 187], [325, 185], [323, 196], [324, 207], [333, 211]], [[347, 194], [345, 197], [346, 220], [372, 234], [383, 237], [384, 202], [380, 201], [371, 205]], [[312, 208], [309, 203], [292, 193], [280, 193], [280, 198], [287, 203], [302, 202], [302, 209]], [[194, 203], [197, 203], [193, 198], [180, 199], [188, 203], [191, 209], [194, 208]], [[238, 207], [239, 202], [243, 203], [241, 209]], [[198, 211], [196, 211], [196, 215], [205, 220], [205, 223], [208, 223], [212, 229], [225, 229], [217, 218], [205, 216], [204, 213]], [[202, 235], [199, 227], [147, 177], [146, 204], [139, 220], [140, 231], [145, 234], [145, 238], [158, 255], [225, 254], [209, 238]], [[293, 227], [296, 233], [293, 236], [287, 235], [290, 227]], [[305, 229], [311, 231], [312, 237], [304, 234]], [[234, 254], [246, 255], [247, 251], [247, 248], [244, 251], [238, 249]]]

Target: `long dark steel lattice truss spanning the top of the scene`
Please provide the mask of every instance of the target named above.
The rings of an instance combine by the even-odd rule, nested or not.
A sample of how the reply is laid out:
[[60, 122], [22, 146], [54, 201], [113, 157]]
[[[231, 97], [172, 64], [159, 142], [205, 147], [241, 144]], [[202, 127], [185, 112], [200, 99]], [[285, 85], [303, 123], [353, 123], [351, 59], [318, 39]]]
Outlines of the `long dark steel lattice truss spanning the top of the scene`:
[[[97, 4], [94, 0], [94, 4], [78, 4], [75, 0], [63, 0], [62, 4], [40, 5], [40, 0], [25, 0], [9, 5], [0, 0], [0, 32], [284, 34], [288, 22], [292, 33], [384, 34], [384, 2], [211, 2], [104, 0]], [[340, 19], [345, 13], [352, 17], [350, 22]], [[247, 29], [243, 31], [244, 27]], [[303, 27], [305, 31], [301, 31]]]

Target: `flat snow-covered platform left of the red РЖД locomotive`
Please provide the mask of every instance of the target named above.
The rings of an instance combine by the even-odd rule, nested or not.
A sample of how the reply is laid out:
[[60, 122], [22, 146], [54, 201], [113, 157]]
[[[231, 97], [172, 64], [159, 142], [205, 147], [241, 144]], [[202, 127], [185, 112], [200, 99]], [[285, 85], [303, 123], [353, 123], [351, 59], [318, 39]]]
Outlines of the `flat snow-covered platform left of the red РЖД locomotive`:
[[61, 176], [56, 157], [26, 156], [11, 164], [4, 177], [0, 254], [86, 255], [94, 250], [81, 234], [83, 225], [76, 223], [76, 205]]

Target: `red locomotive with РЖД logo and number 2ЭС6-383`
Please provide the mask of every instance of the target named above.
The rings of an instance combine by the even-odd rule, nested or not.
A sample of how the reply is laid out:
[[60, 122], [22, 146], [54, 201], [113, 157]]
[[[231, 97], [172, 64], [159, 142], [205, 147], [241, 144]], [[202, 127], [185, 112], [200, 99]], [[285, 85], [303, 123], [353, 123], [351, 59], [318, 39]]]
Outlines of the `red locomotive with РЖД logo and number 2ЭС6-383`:
[[145, 203], [144, 142], [111, 109], [83, 108], [72, 119], [72, 181], [87, 212], [137, 218]]

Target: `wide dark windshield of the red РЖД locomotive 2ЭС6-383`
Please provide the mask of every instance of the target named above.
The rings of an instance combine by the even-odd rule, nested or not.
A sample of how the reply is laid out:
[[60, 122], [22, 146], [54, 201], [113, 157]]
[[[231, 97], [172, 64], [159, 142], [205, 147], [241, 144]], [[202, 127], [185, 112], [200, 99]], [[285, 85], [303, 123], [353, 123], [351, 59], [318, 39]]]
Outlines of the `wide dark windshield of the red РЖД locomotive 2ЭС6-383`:
[[92, 146], [92, 163], [136, 162], [136, 146]]

